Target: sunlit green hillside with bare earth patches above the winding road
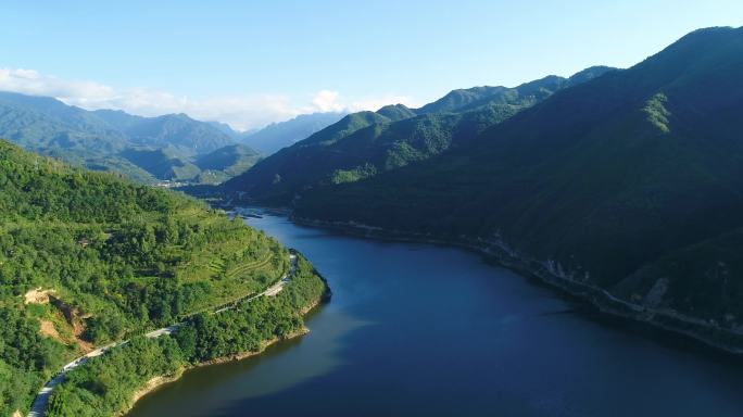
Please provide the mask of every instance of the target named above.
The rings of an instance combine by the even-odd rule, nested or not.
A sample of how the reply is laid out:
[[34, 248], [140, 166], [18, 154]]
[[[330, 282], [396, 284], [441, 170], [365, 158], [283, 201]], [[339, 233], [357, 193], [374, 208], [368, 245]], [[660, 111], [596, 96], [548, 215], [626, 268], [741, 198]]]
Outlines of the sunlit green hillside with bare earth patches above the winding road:
[[[287, 250], [239, 219], [5, 141], [0, 189], [1, 415], [27, 410], [92, 345], [255, 293], [288, 270]], [[119, 382], [100, 383], [113, 393]]]

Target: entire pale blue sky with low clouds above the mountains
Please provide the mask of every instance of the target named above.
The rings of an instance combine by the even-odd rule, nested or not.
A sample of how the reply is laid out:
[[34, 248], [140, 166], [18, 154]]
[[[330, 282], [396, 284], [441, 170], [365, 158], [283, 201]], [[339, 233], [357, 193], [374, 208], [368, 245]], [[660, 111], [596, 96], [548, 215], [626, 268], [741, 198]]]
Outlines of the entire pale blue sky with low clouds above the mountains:
[[5, 0], [0, 88], [249, 128], [627, 67], [695, 28], [741, 25], [740, 0]]

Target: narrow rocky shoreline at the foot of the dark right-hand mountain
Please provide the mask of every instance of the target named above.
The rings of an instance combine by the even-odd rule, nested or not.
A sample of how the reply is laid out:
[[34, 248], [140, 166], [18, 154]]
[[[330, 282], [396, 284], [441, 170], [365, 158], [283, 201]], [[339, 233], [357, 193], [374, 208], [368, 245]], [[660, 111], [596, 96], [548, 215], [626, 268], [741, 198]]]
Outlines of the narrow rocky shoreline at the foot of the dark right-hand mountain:
[[[272, 207], [272, 210], [274, 208]], [[331, 229], [366, 239], [437, 244], [471, 251], [495, 262], [502, 267], [514, 270], [525, 277], [536, 278], [543, 285], [575, 296], [607, 316], [640, 323], [673, 334], [691, 338], [707, 348], [726, 354], [738, 357], [743, 355], [743, 333], [713, 326], [700, 318], [651, 308], [618, 299], [602, 288], [571, 279], [561, 270], [559, 266], [555, 267], [554, 264], [549, 262], [524, 258], [501, 241], [464, 238], [458, 240], [446, 239], [432, 235], [386, 230], [381, 227], [361, 225], [353, 222], [304, 218], [293, 214], [289, 216], [289, 219], [297, 225]], [[735, 342], [726, 342], [726, 339], [732, 339]]]

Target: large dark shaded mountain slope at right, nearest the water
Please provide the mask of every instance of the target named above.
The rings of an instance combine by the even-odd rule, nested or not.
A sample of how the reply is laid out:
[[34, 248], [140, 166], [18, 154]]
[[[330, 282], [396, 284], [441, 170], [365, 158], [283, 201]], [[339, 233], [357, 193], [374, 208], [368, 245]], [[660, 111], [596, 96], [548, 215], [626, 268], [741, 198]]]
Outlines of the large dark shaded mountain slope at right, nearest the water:
[[306, 192], [297, 213], [503, 243], [566, 279], [740, 332], [741, 74], [743, 28], [697, 30], [438, 157]]

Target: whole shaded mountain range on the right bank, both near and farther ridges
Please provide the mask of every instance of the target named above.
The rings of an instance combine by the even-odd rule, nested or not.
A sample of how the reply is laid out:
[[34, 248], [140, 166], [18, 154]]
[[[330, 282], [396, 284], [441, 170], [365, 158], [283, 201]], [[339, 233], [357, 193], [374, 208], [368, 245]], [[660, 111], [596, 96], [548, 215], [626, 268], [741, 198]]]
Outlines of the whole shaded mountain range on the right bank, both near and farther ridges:
[[740, 349], [741, 74], [743, 28], [701, 29], [628, 70], [347, 116], [224, 190], [477, 247], [602, 309]]

